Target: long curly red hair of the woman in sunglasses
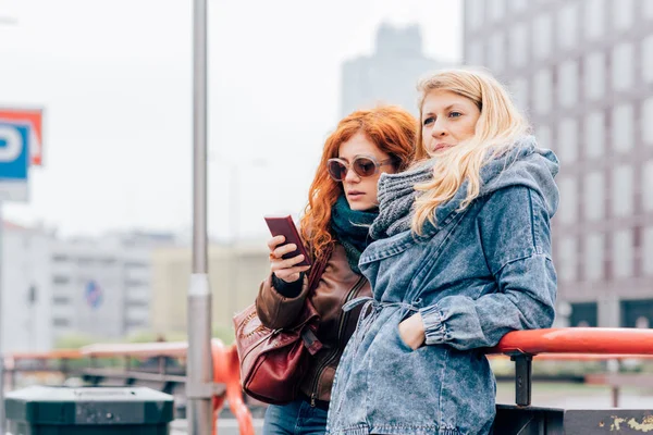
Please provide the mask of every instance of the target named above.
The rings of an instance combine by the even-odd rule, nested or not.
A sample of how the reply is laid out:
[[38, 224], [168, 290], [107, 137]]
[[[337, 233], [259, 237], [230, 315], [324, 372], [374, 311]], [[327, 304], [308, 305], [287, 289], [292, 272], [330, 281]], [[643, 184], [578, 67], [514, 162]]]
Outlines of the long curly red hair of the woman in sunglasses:
[[321, 257], [335, 241], [331, 234], [331, 208], [343, 195], [342, 183], [329, 176], [326, 161], [338, 157], [341, 144], [361, 132], [393, 159], [397, 172], [404, 171], [416, 157], [418, 128], [415, 116], [395, 105], [359, 110], [337, 124], [324, 144], [320, 166], [310, 185], [308, 204], [299, 223], [301, 237], [311, 247], [313, 258]]

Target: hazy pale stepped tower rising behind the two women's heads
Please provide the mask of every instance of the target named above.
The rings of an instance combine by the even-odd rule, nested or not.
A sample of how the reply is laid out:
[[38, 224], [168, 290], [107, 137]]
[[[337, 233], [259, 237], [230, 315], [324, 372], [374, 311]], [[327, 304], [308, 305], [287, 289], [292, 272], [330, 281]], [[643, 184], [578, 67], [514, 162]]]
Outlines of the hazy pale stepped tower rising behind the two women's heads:
[[396, 28], [383, 24], [372, 55], [343, 65], [341, 116], [380, 103], [398, 104], [417, 115], [418, 78], [442, 66], [422, 53], [419, 26]]

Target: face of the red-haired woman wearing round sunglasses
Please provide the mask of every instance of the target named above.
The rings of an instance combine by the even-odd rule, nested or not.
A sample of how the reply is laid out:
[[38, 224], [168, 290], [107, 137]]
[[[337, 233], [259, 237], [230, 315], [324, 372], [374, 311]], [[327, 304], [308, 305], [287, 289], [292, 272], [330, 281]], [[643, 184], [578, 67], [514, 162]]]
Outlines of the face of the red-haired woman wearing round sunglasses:
[[378, 163], [390, 160], [390, 154], [381, 151], [364, 133], [357, 133], [341, 144], [337, 152], [338, 159], [344, 160], [349, 170], [346, 172], [342, 184], [345, 197], [352, 210], [370, 210], [379, 204], [377, 198], [378, 182], [382, 173], [395, 173], [392, 163], [383, 164], [379, 171], [368, 177], [361, 177], [352, 169], [352, 163], [357, 157], [371, 157]]

